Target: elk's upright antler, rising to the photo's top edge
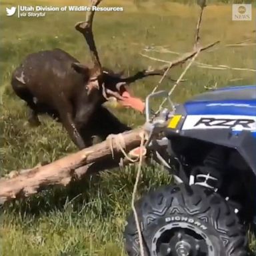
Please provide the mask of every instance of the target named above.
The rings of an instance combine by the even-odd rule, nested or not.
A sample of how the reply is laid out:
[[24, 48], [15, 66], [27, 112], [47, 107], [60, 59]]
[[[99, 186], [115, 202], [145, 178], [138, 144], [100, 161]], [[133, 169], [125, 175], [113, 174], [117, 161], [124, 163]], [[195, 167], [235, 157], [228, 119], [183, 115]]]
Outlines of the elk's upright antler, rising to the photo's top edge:
[[83, 34], [87, 45], [89, 46], [91, 53], [91, 60], [93, 61], [95, 73], [94, 75], [98, 77], [102, 74], [101, 62], [99, 61], [99, 55], [97, 52], [97, 47], [95, 45], [94, 37], [93, 37], [93, 17], [95, 14], [95, 10], [93, 7], [97, 7], [102, 0], [91, 0], [90, 10], [87, 12], [86, 21], [78, 22], [75, 25], [75, 29]]

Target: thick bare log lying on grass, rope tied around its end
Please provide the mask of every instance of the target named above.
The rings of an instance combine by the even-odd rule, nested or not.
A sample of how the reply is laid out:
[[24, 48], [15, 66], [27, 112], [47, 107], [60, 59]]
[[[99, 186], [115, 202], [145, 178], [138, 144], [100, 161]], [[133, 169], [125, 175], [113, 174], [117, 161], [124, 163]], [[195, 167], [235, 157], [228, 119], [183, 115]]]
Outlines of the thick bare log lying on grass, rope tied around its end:
[[118, 167], [123, 158], [122, 148], [125, 152], [129, 152], [139, 147], [141, 133], [143, 128], [127, 131], [114, 135], [117, 139], [110, 137], [106, 141], [67, 155], [53, 163], [13, 171], [9, 177], [0, 179], [0, 205], [13, 199], [29, 197], [53, 185], [67, 186], [71, 181], [81, 180], [91, 172]]

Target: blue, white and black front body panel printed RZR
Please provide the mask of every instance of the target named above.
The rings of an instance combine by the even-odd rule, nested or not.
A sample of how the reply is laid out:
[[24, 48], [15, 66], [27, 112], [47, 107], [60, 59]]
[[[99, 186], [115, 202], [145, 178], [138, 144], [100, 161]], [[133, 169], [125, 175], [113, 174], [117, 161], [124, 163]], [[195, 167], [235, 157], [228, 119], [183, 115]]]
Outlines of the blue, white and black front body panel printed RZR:
[[165, 135], [236, 149], [256, 176], [256, 85], [217, 89], [178, 105]]

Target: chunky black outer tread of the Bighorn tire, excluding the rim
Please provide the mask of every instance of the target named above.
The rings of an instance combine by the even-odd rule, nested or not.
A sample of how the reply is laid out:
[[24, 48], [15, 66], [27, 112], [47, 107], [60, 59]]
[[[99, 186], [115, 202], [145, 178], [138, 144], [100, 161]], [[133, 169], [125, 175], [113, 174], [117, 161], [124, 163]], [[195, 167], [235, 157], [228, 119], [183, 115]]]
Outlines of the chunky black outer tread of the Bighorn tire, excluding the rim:
[[[159, 217], [170, 215], [173, 211], [195, 216], [215, 227], [221, 239], [227, 242], [227, 255], [248, 255], [247, 231], [228, 202], [219, 194], [197, 185], [167, 185], [139, 199], [135, 204], [143, 235], [147, 227]], [[129, 256], [139, 256], [137, 228], [133, 213], [127, 218], [124, 231], [125, 247]], [[148, 254], [149, 256], [149, 254]]]

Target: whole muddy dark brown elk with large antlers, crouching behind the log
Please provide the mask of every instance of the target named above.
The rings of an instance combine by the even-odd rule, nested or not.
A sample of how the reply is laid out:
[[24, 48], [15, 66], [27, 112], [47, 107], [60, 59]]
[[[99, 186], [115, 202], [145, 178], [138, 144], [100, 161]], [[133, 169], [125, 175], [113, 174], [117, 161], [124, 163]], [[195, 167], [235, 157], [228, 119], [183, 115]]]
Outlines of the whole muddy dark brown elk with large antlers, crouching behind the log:
[[[143, 112], [143, 101], [132, 97], [128, 86], [144, 77], [163, 75], [170, 68], [168, 65], [161, 69], [145, 69], [122, 77], [102, 67], [92, 29], [95, 14], [92, 7], [97, 7], [101, 1], [91, 0], [86, 21], [75, 25], [89, 46], [93, 67], [83, 65], [61, 49], [53, 49], [31, 53], [11, 77], [13, 91], [29, 107], [29, 123], [39, 125], [38, 114], [47, 113], [63, 124], [79, 149], [91, 146], [93, 135], [105, 139], [109, 134], [131, 129], [102, 104], [115, 98], [124, 107]], [[197, 51], [177, 59], [171, 67], [187, 61], [195, 53]]]

